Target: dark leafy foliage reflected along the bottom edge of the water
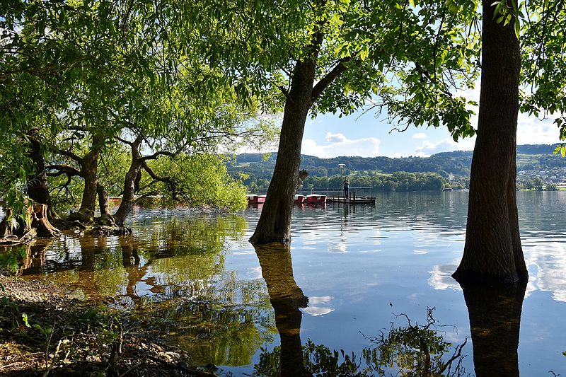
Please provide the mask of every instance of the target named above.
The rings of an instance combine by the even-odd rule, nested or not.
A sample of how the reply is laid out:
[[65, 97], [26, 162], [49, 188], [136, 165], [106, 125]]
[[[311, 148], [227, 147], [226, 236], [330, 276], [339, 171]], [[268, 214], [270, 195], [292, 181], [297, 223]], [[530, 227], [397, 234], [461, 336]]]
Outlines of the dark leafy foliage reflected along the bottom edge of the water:
[[[322, 344], [308, 340], [302, 346], [303, 362], [306, 371], [313, 376], [465, 376], [461, 366], [463, 344], [454, 347], [449, 359], [452, 344], [446, 342], [435, 326], [429, 309], [426, 325], [413, 325], [406, 315], [407, 325], [391, 328], [387, 334], [370, 337], [374, 346], [362, 350], [359, 359], [354, 352], [346, 354], [331, 351]], [[398, 316], [399, 317], [399, 316]], [[260, 361], [254, 366], [255, 376], [282, 376], [280, 346], [271, 352], [262, 349]], [[393, 371], [395, 373], [393, 373]]]

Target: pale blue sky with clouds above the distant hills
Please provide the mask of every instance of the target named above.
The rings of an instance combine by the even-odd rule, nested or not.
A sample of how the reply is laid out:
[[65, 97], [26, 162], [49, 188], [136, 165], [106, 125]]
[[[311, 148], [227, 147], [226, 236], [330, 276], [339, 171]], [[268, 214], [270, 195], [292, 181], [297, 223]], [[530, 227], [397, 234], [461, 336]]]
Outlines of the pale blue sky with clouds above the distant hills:
[[[473, 91], [462, 93], [468, 99], [479, 99], [479, 85]], [[478, 109], [474, 109], [478, 112]], [[409, 127], [405, 132], [376, 117], [374, 112], [359, 112], [348, 117], [319, 115], [308, 119], [301, 153], [323, 158], [337, 156], [430, 156], [445, 151], [472, 150], [475, 137], [454, 142], [446, 127]], [[472, 118], [473, 127], [478, 117]], [[553, 120], [538, 120], [519, 114], [517, 144], [553, 144], [560, 142], [558, 127]]]

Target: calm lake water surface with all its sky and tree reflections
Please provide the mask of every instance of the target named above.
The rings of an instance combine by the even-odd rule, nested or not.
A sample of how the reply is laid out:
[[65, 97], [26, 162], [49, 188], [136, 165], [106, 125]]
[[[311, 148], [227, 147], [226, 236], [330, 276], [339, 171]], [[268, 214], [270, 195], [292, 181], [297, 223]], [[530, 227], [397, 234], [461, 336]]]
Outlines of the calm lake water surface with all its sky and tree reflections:
[[23, 274], [112, 297], [125, 311], [150, 308], [160, 318], [153, 330], [221, 374], [252, 374], [260, 361], [266, 370], [279, 346], [292, 366], [300, 344], [313, 342], [354, 352], [376, 376], [424, 365], [423, 349], [435, 373], [446, 365], [446, 375], [512, 376], [518, 365], [522, 376], [564, 376], [566, 192], [517, 199], [530, 278], [514, 290], [463, 291], [450, 277], [463, 251], [466, 192], [296, 207], [290, 253], [248, 243], [260, 208], [138, 211], [133, 236], [37, 243]]

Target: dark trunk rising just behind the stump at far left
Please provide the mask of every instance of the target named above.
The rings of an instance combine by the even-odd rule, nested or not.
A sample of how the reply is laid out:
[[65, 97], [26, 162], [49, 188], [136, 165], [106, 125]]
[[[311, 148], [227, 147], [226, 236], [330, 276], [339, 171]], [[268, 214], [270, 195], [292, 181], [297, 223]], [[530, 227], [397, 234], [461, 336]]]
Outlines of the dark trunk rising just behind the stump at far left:
[[34, 165], [33, 175], [28, 175], [28, 195], [36, 203], [47, 205], [47, 216], [49, 219], [59, 219], [51, 204], [49, 185], [47, 184], [47, 173], [45, 172], [45, 158], [38, 140], [40, 135], [37, 129], [33, 129], [28, 136], [30, 137], [30, 149], [28, 156]]

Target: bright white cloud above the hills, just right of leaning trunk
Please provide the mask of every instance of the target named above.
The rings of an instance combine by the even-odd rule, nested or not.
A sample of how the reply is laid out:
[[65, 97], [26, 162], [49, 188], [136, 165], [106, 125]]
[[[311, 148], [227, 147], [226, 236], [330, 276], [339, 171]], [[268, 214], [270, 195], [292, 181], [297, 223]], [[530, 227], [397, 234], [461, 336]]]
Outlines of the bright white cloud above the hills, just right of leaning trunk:
[[301, 153], [322, 158], [337, 156], [379, 156], [379, 145], [381, 141], [375, 137], [364, 139], [348, 139], [344, 134], [326, 134], [328, 144], [318, 144], [313, 139], [303, 140]]

